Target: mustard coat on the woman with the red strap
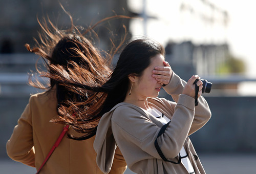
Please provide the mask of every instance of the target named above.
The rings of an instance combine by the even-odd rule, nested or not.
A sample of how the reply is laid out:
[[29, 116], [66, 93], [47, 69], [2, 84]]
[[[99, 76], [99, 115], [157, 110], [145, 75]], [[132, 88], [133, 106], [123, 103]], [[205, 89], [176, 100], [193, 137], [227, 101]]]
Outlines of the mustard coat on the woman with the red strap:
[[[51, 123], [57, 116], [56, 90], [32, 95], [6, 144], [8, 156], [36, 170], [41, 166], [63, 125]], [[79, 136], [72, 128], [69, 133]], [[83, 141], [63, 137], [40, 173], [102, 173], [96, 164], [95, 136]], [[117, 149], [110, 173], [123, 173], [126, 163]]]

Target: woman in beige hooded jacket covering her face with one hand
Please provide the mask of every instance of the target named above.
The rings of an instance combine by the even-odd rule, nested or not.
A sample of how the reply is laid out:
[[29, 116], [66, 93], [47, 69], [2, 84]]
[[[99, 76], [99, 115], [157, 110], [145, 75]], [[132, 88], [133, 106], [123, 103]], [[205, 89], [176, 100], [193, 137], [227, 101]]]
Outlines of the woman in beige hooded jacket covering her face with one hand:
[[[199, 80], [198, 106], [195, 106], [195, 84], [199, 76], [187, 83], [180, 79], [168, 62], [164, 48], [150, 39], [131, 41], [123, 49], [110, 78], [101, 86], [72, 85], [101, 94], [97, 109], [89, 107], [100, 119], [94, 148], [97, 164], [104, 173], [111, 170], [118, 147], [136, 173], [205, 173], [188, 138], [211, 116], [201, 96]], [[175, 102], [158, 98], [160, 89]], [[75, 121], [66, 117], [66, 121]], [[83, 120], [88, 126], [90, 120]], [[76, 126], [74, 124], [74, 126]]]

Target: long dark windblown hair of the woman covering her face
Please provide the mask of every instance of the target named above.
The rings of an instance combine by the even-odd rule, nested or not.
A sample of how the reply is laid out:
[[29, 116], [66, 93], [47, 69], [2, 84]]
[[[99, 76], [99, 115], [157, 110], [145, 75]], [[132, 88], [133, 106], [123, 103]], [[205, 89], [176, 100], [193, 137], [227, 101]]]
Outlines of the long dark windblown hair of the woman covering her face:
[[[88, 138], [90, 124], [94, 125], [95, 120], [99, 121], [101, 116], [109, 112], [116, 104], [125, 99], [129, 88], [129, 75], [135, 74], [141, 76], [143, 71], [150, 66], [151, 58], [157, 54], [164, 55], [164, 48], [158, 42], [150, 39], [135, 39], [129, 42], [121, 52], [116, 67], [112, 71], [110, 78], [102, 85], [84, 85], [72, 79], [66, 79], [66, 83], [74, 88], [86, 89], [100, 94], [97, 98], [97, 104], [91, 105], [88, 101], [82, 104], [90, 104], [81, 115], [90, 115], [88, 118], [71, 118], [61, 115], [60, 119], [66, 123], [71, 123], [79, 132], [86, 133], [85, 136], [76, 139], [82, 140]], [[99, 95], [98, 95], [99, 96]], [[95, 99], [95, 98], [94, 98]], [[75, 107], [78, 103], [73, 104]], [[81, 104], [81, 103], [80, 103]], [[83, 127], [86, 127], [83, 129]]]

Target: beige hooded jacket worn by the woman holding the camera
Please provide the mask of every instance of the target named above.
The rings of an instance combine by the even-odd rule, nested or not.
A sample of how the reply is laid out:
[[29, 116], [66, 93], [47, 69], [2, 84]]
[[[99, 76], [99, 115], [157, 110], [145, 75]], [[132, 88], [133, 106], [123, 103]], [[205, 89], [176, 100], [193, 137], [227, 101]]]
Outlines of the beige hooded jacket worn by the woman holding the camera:
[[194, 98], [181, 94], [185, 84], [173, 73], [169, 84], [164, 87], [177, 103], [164, 98], [148, 98], [149, 105], [172, 120], [158, 139], [162, 123], [138, 106], [119, 103], [102, 116], [94, 148], [97, 164], [104, 173], [111, 169], [117, 145], [128, 167], [136, 173], [188, 173], [182, 163], [162, 160], [154, 145], [156, 139], [168, 160], [177, 162], [184, 146], [195, 173], [205, 173], [188, 136], [200, 129], [210, 119], [211, 113], [202, 96], [195, 107]]

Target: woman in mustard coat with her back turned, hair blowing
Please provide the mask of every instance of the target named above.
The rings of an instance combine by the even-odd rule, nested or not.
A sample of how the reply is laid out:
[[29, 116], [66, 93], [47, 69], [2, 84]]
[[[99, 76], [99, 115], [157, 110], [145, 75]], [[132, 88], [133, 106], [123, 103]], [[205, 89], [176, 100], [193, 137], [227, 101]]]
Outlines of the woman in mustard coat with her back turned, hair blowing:
[[[37, 70], [41, 76], [50, 78], [50, 84], [44, 87], [38, 80], [34, 82], [30, 79], [31, 85], [47, 91], [30, 97], [6, 148], [11, 159], [36, 167], [37, 170], [65, 125], [54, 123], [57, 116], [67, 114], [89, 118], [88, 115], [80, 115], [79, 110], [94, 105], [100, 97], [100, 94], [87, 90], [81, 90], [82, 95], [79, 95], [79, 89], [67, 88], [62, 80], [69, 78], [83, 84], [102, 85], [110, 72], [108, 58], [103, 58], [92, 42], [84, 36], [91, 32], [92, 28], [80, 34], [73, 25], [71, 16], [70, 18], [72, 25], [69, 30], [59, 30], [50, 20], [50, 27], [45, 19], [44, 23], [38, 20], [43, 31], [39, 34], [40, 43], [37, 42], [37, 46], [32, 49], [26, 45], [30, 52], [41, 56], [45, 61], [47, 71]], [[74, 70], [78, 73], [74, 74]], [[70, 104], [87, 100], [90, 100], [90, 104], [77, 105], [75, 108]], [[84, 134], [77, 133], [71, 127], [68, 135], [73, 139], [64, 137], [61, 140], [40, 173], [102, 173], [96, 164], [96, 153], [93, 149], [97, 124], [97, 120], [91, 119], [89, 128], [83, 127], [82, 131], [75, 129], [80, 133], [90, 132], [83, 141], [73, 140]], [[117, 149], [110, 173], [123, 173], [125, 169], [126, 163]]]

